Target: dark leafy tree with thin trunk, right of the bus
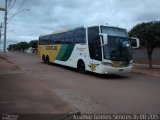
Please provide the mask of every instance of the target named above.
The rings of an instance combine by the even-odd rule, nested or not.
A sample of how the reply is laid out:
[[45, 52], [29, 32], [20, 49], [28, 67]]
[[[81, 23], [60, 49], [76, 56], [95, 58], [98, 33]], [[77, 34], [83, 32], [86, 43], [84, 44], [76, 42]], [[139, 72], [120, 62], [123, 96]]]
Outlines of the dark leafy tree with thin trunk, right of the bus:
[[131, 29], [129, 35], [139, 38], [141, 45], [147, 48], [149, 67], [152, 68], [152, 53], [160, 46], [160, 21], [140, 23]]

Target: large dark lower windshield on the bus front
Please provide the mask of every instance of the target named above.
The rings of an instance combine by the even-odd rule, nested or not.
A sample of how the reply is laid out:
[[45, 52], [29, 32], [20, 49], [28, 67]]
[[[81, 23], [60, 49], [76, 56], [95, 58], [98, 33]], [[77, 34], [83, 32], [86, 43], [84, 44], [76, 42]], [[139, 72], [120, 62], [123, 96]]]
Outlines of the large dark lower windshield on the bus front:
[[131, 44], [129, 38], [108, 36], [108, 44], [104, 45], [104, 59], [112, 61], [130, 62], [132, 59]]

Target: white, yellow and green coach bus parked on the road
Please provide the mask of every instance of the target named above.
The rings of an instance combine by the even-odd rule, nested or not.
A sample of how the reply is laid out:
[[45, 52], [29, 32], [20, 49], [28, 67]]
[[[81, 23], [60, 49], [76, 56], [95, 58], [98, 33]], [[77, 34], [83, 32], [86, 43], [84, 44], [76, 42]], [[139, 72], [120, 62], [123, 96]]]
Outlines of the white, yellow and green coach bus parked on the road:
[[114, 74], [131, 71], [132, 47], [139, 47], [139, 39], [129, 38], [126, 29], [83, 26], [40, 36], [38, 56], [44, 63], [76, 68], [80, 73]]

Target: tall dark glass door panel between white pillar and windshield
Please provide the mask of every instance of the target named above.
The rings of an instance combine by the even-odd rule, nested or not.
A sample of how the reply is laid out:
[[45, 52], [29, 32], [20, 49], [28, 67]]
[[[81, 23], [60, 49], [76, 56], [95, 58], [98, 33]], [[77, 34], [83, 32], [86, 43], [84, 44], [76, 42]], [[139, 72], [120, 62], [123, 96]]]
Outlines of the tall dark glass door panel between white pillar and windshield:
[[88, 45], [91, 59], [102, 60], [99, 27], [88, 28]]

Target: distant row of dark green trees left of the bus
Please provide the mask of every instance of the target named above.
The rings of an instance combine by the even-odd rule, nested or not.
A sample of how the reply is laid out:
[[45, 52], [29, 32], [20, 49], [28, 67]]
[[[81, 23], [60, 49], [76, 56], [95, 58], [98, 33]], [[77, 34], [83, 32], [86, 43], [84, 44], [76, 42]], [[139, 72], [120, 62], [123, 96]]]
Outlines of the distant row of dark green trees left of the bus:
[[8, 51], [22, 51], [22, 52], [25, 52], [25, 50], [28, 49], [29, 47], [37, 49], [38, 41], [37, 40], [32, 40], [29, 43], [19, 42], [17, 44], [10, 44], [7, 49], [8, 49]]

